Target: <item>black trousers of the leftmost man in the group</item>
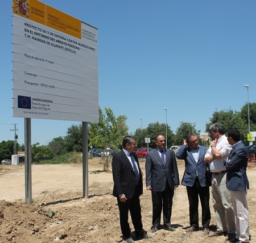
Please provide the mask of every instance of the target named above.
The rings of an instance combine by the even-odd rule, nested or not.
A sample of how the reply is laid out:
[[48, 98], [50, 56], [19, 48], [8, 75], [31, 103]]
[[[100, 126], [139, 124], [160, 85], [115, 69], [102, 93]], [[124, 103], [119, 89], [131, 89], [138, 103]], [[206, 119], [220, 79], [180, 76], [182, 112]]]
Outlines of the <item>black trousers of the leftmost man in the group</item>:
[[122, 203], [117, 196], [119, 208], [120, 226], [123, 238], [130, 237], [131, 229], [128, 223], [128, 212], [130, 210], [131, 221], [135, 229], [136, 237], [143, 236], [144, 229], [141, 220], [141, 203], [139, 202], [138, 186], [135, 187], [133, 197]]

